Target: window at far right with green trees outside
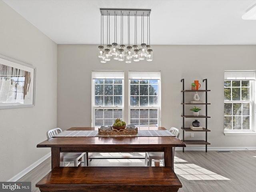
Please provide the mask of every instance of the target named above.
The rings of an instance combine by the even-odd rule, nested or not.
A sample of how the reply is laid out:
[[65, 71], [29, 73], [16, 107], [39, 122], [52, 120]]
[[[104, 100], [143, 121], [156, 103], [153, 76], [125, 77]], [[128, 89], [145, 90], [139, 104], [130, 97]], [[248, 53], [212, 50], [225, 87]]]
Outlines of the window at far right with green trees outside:
[[224, 79], [224, 130], [254, 129], [255, 71], [226, 71]]

